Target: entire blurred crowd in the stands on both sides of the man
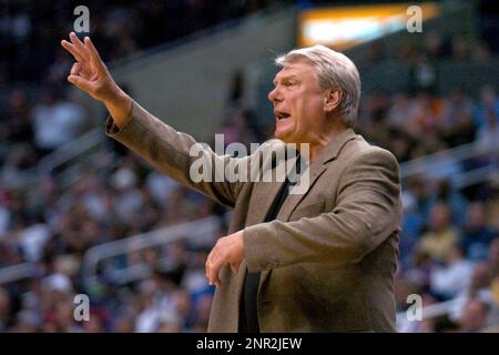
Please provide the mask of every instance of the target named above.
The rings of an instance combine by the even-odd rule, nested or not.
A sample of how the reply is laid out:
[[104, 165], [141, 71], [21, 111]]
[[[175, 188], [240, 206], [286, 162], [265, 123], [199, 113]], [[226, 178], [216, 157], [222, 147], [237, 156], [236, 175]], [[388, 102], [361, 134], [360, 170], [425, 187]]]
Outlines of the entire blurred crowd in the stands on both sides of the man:
[[[9, 53], [0, 57], [0, 88], [28, 83], [9, 85], [0, 95], [0, 271], [21, 263], [32, 267], [29, 277], [0, 284], [0, 332], [203, 332], [214, 291], [204, 276], [210, 243], [194, 243], [186, 236], [133, 251], [99, 265], [99, 277], [84, 283], [82, 260], [90, 247], [216, 215], [221, 226], [213, 242], [226, 231], [227, 211], [110, 140], [99, 154], [102, 169], [84, 171], [69, 186], [60, 184], [57, 172], [38, 170], [43, 158], [94, 123], [78, 98], [61, 89], [72, 62], [53, 39], [67, 36], [69, 26], [61, 19], [72, 4], [62, 1], [55, 11], [48, 11], [43, 2], [30, 4], [37, 11], [12, 4], [9, 16], [0, 18], [0, 45]], [[114, 60], [272, 2], [141, 1], [125, 10], [91, 1], [89, 7], [105, 9], [92, 14], [92, 36], [103, 48], [104, 59]], [[167, 18], [175, 11], [190, 16]], [[131, 29], [126, 21], [136, 27]], [[171, 31], [164, 30], [165, 23]], [[491, 55], [483, 52], [483, 58]], [[424, 53], [432, 55], [430, 50]], [[369, 60], [378, 59], [373, 54]], [[38, 90], [31, 90], [33, 82]], [[272, 134], [242, 104], [243, 90], [244, 78], [238, 73], [224, 123], [216, 130], [225, 134], [226, 144], [262, 142]], [[470, 142], [485, 151], [496, 150], [496, 154], [438, 166], [403, 182], [395, 286], [398, 312], [409, 308], [410, 294], [421, 295], [425, 305], [456, 300], [445, 315], [424, 322], [403, 320], [401, 332], [499, 331], [499, 183], [496, 176], [457, 190], [449, 179], [469, 169], [497, 166], [499, 97], [495, 88], [483, 85], [478, 95], [459, 88], [447, 95], [432, 90], [371, 93], [361, 100], [356, 130], [394, 152], [401, 163]], [[205, 141], [211, 139], [213, 134]], [[8, 187], [33, 173], [38, 174], [35, 185]], [[136, 265], [145, 265], [147, 276], [129, 282], [113, 277], [114, 272]], [[73, 297], [81, 293], [91, 301], [89, 322], [73, 316]]]

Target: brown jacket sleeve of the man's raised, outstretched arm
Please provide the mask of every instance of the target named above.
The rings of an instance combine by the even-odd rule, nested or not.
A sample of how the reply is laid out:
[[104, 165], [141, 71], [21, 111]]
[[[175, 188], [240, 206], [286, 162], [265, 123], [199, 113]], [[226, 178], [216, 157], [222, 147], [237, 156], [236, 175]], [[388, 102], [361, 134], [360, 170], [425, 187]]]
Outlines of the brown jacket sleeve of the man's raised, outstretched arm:
[[[197, 143], [191, 135], [175, 131], [135, 101], [131, 115], [122, 129], [109, 116], [105, 125], [106, 134], [180, 183], [222, 204], [234, 206], [244, 180], [225, 179], [224, 168], [249, 164], [251, 156], [235, 159], [230, 155], [217, 155], [207, 145]], [[265, 143], [261, 149], [264, 145]], [[193, 175], [197, 178], [193, 179]]]

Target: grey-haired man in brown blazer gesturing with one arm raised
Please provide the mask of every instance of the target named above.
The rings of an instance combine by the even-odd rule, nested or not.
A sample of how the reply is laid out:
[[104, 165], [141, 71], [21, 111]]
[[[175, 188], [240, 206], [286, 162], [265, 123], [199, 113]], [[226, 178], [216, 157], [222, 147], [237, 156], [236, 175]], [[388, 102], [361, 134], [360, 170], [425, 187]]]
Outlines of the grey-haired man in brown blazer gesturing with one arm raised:
[[77, 63], [68, 80], [105, 104], [106, 133], [155, 169], [234, 207], [230, 235], [217, 241], [206, 262], [206, 276], [217, 286], [208, 331], [395, 331], [398, 164], [353, 130], [360, 80], [348, 58], [322, 45], [278, 58], [282, 70], [268, 94], [276, 140], [240, 159], [204, 151], [215, 163], [244, 160], [252, 169], [273, 171], [286, 159], [265, 159], [265, 152], [306, 144], [302, 174], [308, 184], [289, 194], [289, 179], [194, 182], [194, 139], [128, 97], [89, 38], [81, 42], [71, 33], [70, 40], [62, 45]]

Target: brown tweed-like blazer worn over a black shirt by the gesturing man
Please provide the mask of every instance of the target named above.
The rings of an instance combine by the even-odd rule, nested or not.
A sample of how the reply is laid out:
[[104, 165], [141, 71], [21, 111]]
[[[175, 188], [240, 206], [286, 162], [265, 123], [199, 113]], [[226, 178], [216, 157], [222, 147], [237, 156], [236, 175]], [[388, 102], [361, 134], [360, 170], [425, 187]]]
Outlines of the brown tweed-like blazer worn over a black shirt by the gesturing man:
[[[395, 332], [394, 274], [401, 203], [399, 169], [391, 153], [348, 129], [309, 165], [309, 187], [289, 195], [277, 219], [263, 223], [282, 183], [200, 182], [190, 178], [195, 140], [154, 118], [136, 102], [106, 134], [155, 169], [233, 207], [228, 233], [244, 229], [240, 272], [221, 271], [210, 332], [237, 332], [243, 271], [262, 272], [257, 312], [262, 332]], [[284, 144], [271, 140], [253, 155]], [[234, 158], [205, 153], [215, 161]], [[283, 162], [264, 161], [262, 169]], [[258, 165], [259, 166], [259, 165]]]

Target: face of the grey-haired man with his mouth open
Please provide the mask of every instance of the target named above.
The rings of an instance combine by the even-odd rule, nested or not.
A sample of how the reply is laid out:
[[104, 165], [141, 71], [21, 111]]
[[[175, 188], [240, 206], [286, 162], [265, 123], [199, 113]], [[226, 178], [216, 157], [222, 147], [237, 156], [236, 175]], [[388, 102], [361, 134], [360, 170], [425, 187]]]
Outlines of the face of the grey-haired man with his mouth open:
[[274, 135], [286, 143], [309, 143], [320, 134], [326, 119], [325, 91], [306, 61], [284, 67], [274, 79], [268, 100], [276, 118]]

